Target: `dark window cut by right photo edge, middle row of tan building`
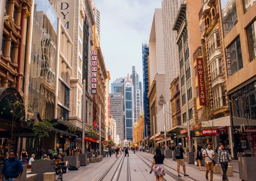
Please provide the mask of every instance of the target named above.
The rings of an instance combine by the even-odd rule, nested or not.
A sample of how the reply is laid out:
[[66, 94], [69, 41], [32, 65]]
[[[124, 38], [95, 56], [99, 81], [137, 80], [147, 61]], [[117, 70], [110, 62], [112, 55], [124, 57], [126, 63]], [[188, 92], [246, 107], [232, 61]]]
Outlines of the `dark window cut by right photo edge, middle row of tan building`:
[[246, 28], [250, 61], [256, 58], [255, 25], [256, 20], [254, 20], [253, 23]]

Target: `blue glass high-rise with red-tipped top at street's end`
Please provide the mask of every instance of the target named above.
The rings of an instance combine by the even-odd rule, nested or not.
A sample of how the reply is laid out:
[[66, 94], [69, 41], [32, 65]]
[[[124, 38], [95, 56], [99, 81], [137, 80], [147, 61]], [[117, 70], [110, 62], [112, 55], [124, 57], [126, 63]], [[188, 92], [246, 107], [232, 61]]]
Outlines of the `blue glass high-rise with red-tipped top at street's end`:
[[122, 93], [124, 98], [124, 139], [133, 140], [133, 85], [129, 74], [125, 78], [119, 78], [111, 84], [112, 93]]

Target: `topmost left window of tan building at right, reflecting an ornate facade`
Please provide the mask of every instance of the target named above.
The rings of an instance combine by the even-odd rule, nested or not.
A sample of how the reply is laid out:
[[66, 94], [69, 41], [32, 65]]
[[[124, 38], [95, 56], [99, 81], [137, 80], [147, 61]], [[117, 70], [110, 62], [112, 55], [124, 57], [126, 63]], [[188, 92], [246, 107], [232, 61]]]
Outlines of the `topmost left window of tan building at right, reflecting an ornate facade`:
[[224, 37], [237, 24], [237, 7], [234, 0], [221, 0], [221, 15]]

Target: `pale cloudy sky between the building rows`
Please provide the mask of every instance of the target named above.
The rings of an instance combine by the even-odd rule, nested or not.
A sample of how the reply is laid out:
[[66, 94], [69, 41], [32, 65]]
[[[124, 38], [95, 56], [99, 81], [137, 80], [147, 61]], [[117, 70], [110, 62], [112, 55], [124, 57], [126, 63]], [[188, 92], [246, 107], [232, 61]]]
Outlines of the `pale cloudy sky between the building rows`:
[[154, 9], [161, 0], [94, 0], [101, 12], [101, 50], [111, 83], [132, 73], [135, 66], [143, 84], [142, 42], [148, 43]]

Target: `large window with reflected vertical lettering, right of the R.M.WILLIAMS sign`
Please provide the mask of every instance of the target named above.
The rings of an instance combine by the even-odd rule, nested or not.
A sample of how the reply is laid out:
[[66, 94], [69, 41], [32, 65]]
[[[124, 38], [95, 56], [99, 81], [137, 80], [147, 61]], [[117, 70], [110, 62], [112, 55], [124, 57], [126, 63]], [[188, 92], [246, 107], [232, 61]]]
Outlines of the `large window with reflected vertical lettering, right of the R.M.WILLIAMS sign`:
[[227, 76], [234, 75], [243, 68], [242, 51], [240, 37], [234, 40], [229, 47], [225, 49], [227, 62]]

